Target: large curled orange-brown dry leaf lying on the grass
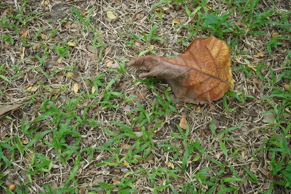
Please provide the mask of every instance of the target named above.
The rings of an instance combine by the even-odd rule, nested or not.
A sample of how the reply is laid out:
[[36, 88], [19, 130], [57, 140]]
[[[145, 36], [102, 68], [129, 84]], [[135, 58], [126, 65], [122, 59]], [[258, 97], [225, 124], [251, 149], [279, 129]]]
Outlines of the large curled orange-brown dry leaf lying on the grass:
[[141, 78], [164, 78], [184, 102], [210, 103], [234, 87], [229, 49], [214, 36], [195, 39], [175, 58], [146, 55], [129, 65], [147, 70], [140, 74]]

